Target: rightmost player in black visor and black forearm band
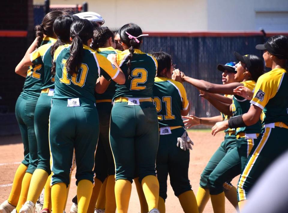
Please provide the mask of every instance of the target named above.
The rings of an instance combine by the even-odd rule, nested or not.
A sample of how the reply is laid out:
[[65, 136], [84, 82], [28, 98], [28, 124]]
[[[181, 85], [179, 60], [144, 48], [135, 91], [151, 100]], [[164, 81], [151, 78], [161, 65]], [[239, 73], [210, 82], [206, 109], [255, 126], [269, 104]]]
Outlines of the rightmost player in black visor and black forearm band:
[[[224, 126], [247, 128], [255, 125], [263, 110], [263, 127], [258, 137], [259, 143], [253, 147], [238, 182], [239, 208], [247, 199], [247, 194], [259, 176], [269, 164], [288, 149], [284, 135], [288, 133], [288, 79], [286, 63], [288, 59], [288, 39], [285, 36], [273, 36], [256, 49], [264, 50], [266, 67], [271, 71], [259, 77], [251, 106], [247, 113], [233, 118], [229, 122], [216, 123], [212, 133], [216, 134]], [[246, 96], [244, 96], [246, 97]]]

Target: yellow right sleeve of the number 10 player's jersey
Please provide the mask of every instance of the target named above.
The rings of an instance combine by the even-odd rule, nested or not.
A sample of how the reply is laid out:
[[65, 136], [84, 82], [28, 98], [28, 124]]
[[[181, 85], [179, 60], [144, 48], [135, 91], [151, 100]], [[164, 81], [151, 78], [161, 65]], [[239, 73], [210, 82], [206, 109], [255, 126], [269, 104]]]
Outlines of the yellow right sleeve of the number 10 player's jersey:
[[[100, 73], [99, 75], [103, 75], [105, 77], [105, 79], [107, 79], [107, 77], [105, 76], [106, 72], [111, 79], [115, 79], [118, 74], [119, 74], [119, 70], [115, 67], [114, 64], [112, 64], [105, 56], [100, 55], [98, 53], [93, 53], [96, 55], [98, 64], [99, 64], [99, 68], [100, 68]], [[109, 81], [109, 79], [107, 79]]]

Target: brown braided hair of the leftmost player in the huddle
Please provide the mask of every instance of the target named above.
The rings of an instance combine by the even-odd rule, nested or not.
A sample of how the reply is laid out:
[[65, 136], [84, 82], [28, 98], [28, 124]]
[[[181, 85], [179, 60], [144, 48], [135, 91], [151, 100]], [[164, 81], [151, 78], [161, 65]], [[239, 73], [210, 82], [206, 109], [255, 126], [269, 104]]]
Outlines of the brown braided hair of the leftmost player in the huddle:
[[57, 17], [64, 15], [67, 15], [67, 13], [64, 11], [55, 10], [50, 13], [47, 13], [46, 16], [44, 16], [42, 23], [35, 27], [37, 48], [41, 46], [41, 42], [43, 41], [44, 35], [49, 37], [55, 36], [53, 31], [53, 23]]

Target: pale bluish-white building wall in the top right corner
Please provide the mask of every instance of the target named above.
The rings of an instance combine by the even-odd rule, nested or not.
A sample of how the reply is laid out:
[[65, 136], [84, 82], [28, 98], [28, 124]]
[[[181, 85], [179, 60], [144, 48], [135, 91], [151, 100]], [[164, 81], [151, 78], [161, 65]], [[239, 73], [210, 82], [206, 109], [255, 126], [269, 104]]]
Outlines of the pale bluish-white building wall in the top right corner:
[[[266, 31], [288, 31], [288, 0], [207, 1], [208, 30], [258, 31], [264, 28]], [[267, 22], [270, 22], [270, 26]]]

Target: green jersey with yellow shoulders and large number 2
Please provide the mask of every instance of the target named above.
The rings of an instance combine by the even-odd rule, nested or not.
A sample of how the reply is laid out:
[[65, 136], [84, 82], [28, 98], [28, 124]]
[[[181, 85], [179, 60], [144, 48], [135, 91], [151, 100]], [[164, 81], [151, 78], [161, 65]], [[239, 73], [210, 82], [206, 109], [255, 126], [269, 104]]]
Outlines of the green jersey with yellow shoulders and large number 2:
[[125, 84], [116, 84], [116, 93], [113, 99], [116, 97], [137, 97], [148, 98], [153, 97], [154, 78], [157, 72], [156, 59], [139, 49], [135, 49], [131, 61], [131, 78], [128, 78], [128, 55], [129, 50], [125, 50], [117, 55], [117, 63], [124, 72], [126, 81]]

